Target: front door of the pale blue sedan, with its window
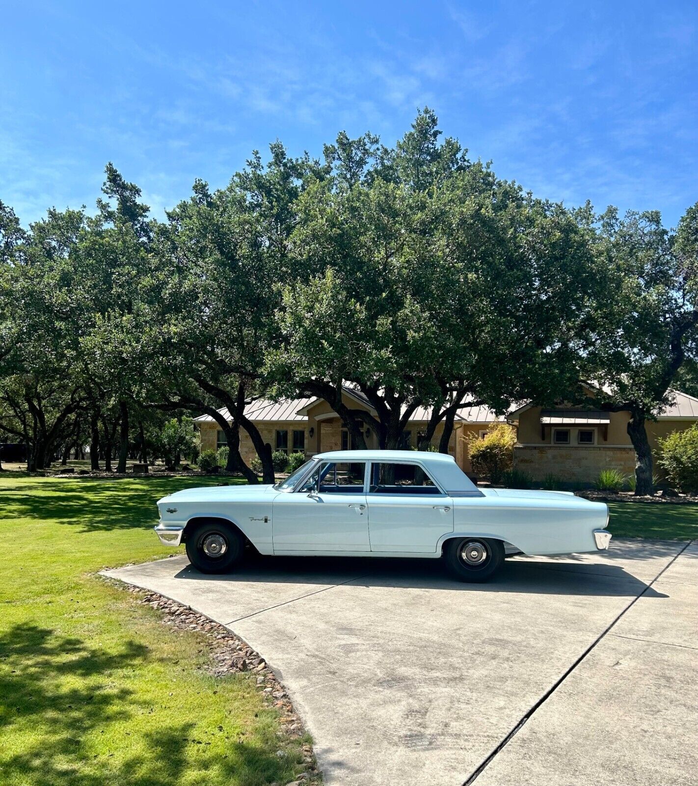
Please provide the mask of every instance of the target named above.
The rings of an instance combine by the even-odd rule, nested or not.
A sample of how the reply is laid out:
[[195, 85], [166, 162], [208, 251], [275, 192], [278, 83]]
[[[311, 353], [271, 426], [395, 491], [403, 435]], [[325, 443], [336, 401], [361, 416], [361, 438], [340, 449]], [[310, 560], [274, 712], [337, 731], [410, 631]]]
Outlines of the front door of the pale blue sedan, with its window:
[[370, 551], [365, 468], [327, 461], [302, 489], [277, 494], [274, 553]]

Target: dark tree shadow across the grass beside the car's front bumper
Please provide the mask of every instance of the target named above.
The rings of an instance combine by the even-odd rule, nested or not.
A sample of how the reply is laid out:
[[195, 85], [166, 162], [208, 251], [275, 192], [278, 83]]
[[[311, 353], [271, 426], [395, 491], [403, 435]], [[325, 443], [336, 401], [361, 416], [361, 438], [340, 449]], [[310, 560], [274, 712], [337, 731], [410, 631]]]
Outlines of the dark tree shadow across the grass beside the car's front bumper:
[[[236, 479], [226, 478], [225, 482]], [[148, 529], [158, 520], [155, 502], [185, 488], [220, 483], [216, 476], [123, 479], [47, 479], [0, 487], [5, 518], [53, 520], [83, 532]]]

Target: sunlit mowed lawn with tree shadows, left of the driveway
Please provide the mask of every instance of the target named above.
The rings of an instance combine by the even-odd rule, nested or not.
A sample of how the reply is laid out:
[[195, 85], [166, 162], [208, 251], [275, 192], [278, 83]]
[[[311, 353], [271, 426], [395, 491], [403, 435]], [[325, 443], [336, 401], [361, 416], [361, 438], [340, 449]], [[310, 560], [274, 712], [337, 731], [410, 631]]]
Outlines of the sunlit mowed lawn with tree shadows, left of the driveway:
[[206, 674], [202, 637], [94, 575], [174, 553], [152, 532], [155, 501], [217, 480], [0, 474], [0, 784], [255, 786], [301, 771], [254, 679]]

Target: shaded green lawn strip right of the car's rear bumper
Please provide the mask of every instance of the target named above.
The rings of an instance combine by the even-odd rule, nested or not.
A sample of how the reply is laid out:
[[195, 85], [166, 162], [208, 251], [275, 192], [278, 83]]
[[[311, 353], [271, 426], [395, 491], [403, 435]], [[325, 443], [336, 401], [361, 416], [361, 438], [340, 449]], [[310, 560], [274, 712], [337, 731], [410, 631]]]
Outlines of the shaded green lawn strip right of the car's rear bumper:
[[619, 538], [698, 538], [698, 504], [609, 502], [608, 529]]

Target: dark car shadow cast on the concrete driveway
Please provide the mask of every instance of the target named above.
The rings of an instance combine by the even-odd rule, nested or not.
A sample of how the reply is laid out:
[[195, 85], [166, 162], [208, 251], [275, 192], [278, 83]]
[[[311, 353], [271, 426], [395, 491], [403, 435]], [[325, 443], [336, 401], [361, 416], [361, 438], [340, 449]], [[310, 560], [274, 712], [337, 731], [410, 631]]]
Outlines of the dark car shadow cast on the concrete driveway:
[[[658, 567], [658, 572], [660, 568]], [[250, 555], [231, 573], [206, 575], [187, 565], [174, 578], [225, 584], [401, 587], [454, 592], [487, 592], [592, 597], [662, 598], [667, 595], [618, 565], [570, 564], [549, 560], [506, 560], [490, 581], [469, 584], [451, 578], [440, 560], [370, 557], [291, 557]]]

